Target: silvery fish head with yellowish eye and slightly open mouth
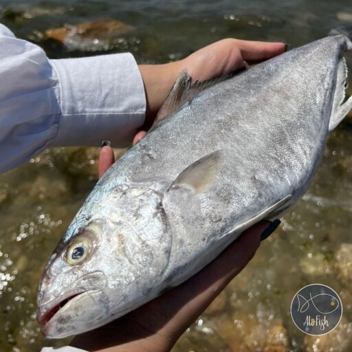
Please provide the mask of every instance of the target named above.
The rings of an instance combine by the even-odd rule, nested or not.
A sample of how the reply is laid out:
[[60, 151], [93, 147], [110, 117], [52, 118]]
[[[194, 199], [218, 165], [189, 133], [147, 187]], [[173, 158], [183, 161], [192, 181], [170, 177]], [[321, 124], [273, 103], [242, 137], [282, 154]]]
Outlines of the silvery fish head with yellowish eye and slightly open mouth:
[[170, 236], [159, 195], [129, 188], [105, 201], [85, 203], [45, 267], [37, 320], [47, 338], [100, 327], [161, 290]]

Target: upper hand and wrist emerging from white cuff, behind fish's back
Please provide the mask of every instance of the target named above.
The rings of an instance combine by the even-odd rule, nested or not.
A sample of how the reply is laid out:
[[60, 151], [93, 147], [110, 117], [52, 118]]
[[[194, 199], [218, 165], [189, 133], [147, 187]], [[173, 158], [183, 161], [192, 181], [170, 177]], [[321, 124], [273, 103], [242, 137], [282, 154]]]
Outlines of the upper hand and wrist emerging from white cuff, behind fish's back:
[[146, 91], [146, 120], [142, 130], [153, 124], [179, 74], [187, 70], [193, 80], [208, 80], [285, 52], [284, 43], [223, 39], [197, 50], [183, 60], [164, 65], [140, 65]]

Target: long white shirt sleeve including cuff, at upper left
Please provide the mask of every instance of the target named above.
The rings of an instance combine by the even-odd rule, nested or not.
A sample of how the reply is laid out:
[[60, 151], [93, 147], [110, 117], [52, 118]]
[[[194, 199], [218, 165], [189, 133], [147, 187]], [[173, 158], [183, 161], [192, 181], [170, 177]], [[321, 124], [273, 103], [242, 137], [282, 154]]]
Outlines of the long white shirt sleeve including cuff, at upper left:
[[0, 173], [49, 146], [126, 146], [145, 109], [131, 54], [50, 60], [0, 24]]

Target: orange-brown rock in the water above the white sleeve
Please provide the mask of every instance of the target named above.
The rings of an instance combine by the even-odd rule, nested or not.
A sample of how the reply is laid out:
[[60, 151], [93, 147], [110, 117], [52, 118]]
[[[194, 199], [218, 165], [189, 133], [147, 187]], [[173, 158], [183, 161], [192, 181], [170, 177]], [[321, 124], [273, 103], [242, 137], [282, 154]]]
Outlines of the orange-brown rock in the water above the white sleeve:
[[62, 43], [67, 50], [98, 51], [108, 50], [133, 31], [131, 25], [107, 18], [47, 30], [45, 36]]

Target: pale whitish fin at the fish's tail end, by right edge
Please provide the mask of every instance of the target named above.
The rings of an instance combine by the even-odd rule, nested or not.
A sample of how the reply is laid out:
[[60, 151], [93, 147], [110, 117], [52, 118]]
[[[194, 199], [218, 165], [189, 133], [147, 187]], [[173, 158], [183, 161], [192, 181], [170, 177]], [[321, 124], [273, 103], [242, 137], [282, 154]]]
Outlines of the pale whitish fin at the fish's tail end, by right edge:
[[336, 89], [333, 96], [333, 107], [329, 121], [329, 131], [335, 129], [336, 126], [345, 118], [347, 113], [352, 109], [352, 96], [346, 102], [344, 101], [344, 91], [347, 84], [347, 65], [344, 58], [338, 63], [338, 76], [336, 79]]

